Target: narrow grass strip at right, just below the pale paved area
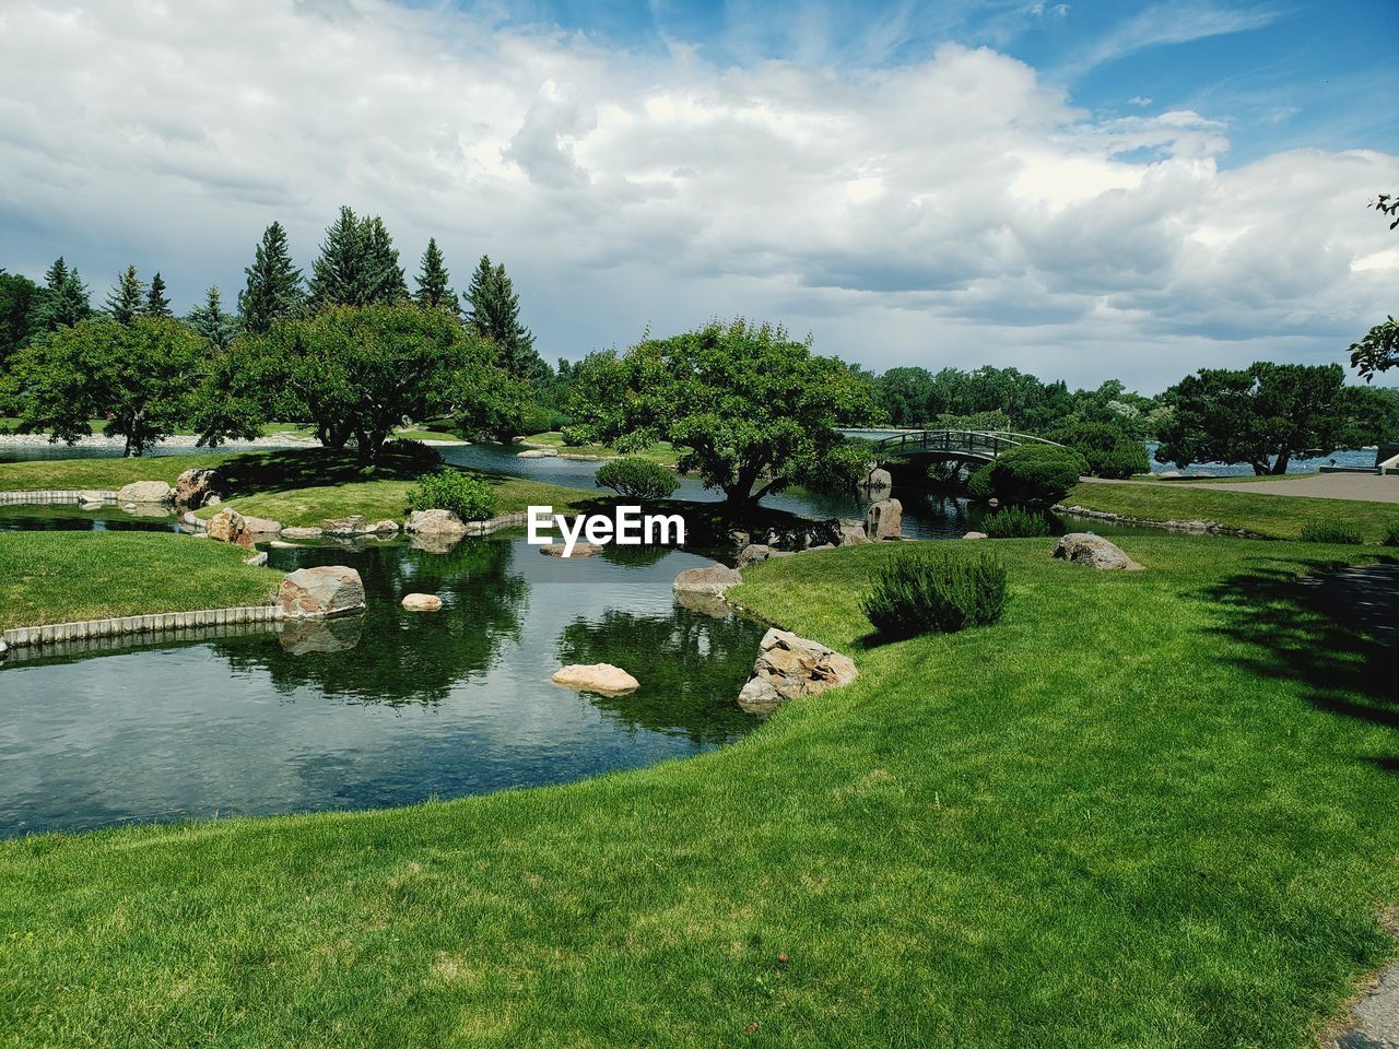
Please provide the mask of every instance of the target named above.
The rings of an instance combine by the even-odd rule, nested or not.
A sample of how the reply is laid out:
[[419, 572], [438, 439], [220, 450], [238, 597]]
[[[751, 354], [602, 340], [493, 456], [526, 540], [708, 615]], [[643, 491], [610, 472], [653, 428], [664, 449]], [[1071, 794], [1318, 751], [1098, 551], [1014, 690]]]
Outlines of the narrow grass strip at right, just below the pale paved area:
[[1213, 520], [1272, 538], [1297, 538], [1305, 524], [1343, 522], [1356, 527], [1367, 543], [1378, 543], [1384, 538], [1385, 526], [1399, 520], [1399, 506], [1393, 504], [1178, 488], [1167, 481], [1081, 481], [1069, 491], [1063, 504], [1144, 520]]

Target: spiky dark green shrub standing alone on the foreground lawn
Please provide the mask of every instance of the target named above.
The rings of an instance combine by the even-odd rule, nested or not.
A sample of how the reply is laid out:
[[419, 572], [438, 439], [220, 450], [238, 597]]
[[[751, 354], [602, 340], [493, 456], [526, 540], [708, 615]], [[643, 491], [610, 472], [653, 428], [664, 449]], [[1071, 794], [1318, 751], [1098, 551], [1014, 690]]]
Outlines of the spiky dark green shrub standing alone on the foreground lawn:
[[888, 638], [953, 634], [986, 627], [1006, 607], [1006, 566], [990, 552], [975, 558], [905, 554], [880, 569], [860, 610]]

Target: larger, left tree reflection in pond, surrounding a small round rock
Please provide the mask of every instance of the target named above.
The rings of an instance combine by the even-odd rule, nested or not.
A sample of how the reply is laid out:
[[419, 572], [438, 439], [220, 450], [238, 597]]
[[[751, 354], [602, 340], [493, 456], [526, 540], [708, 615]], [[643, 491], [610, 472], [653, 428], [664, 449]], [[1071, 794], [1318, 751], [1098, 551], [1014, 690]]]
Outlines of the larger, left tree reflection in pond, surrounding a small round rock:
[[[353, 702], [438, 702], [452, 685], [495, 663], [519, 636], [529, 585], [509, 572], [509, 543], [464, 540], [445, 554], [395, 544], [362, 552], [308, 547], [297, 568], [348, 564], [364, 579], [362, 617], [287, 624], [280, 638], [214, 645], [234, 670], [266, 670], [278, 691], [316, 687]], [[435, 593], [436, 613], [399, 607], [406, 593]], [[358, 627], [358, 629], [355, 628]]]

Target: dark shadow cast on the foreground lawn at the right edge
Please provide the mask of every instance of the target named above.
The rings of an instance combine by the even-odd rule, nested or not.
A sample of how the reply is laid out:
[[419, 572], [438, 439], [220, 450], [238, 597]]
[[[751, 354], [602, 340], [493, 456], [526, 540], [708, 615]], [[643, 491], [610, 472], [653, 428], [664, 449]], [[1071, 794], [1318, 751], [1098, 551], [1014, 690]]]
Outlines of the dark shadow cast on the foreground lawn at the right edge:
[[[1248, 646], [1249, 673], [1302, 683], [1318, 709], [1399, 729], [1399, 562], [1259, 559], [1205, 596], [1220, 617], [1213, 632]], [[1399, 772], [1399, 754], [1370, 761]]]

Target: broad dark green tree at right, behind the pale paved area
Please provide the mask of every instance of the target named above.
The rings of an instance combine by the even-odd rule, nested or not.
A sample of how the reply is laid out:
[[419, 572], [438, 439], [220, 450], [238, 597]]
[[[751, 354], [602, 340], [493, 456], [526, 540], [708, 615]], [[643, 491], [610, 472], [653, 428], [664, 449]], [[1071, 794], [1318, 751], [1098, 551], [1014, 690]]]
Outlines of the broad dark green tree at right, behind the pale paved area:
[[1181, 467], [1248, 463], [1265, 476], [1287, 473], [1304, 450], [1330, 455], [1346, 443], [1370, 443], [1367, 411], [1344, 378], [1339, 364], [1202, 368], [1163, 394], [1171, 415], [1156, 459]]

